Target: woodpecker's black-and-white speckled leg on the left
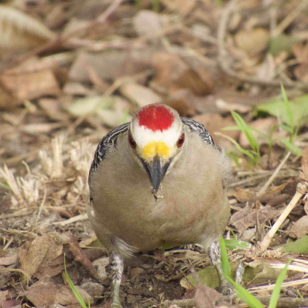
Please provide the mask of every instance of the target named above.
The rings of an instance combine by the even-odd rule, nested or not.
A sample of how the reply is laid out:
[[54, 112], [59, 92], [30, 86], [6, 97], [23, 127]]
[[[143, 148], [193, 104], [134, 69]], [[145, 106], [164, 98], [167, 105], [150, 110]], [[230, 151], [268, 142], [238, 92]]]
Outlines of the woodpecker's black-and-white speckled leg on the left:
[[120, 304], [119, 290], [123, 273], [123, 259], [119, 254], [111, 252], [109, 255], [109, 264], [113, 282], [111, 308], [122, 308]]

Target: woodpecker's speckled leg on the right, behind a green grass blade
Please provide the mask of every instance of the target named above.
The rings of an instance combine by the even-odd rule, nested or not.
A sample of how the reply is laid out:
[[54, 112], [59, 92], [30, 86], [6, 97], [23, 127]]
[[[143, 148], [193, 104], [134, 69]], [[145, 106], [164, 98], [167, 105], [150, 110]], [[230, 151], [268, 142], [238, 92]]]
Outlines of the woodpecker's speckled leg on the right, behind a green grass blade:
[[213, 241], [213, 243], [209, 247], [209, 257], [211, 262], [215, 266], [218, 277], [219, 277], [219, 292], [223, 295], [231, 294], [231, 286], [229, 285], [228, 281], [226, 280], [224, 274], [222, 273], [222, 266], [221, 266], [221, 249], [219, 246], [218, 241]]

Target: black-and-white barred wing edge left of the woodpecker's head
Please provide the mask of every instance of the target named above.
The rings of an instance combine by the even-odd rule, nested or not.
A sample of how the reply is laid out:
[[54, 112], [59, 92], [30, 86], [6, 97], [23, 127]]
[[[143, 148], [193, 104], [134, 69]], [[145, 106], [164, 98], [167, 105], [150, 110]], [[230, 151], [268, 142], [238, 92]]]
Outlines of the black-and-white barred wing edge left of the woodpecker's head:
[[106, 154], [108, 154], [113, 149], [115, 149], [119, 136], [128, 131], [129, 124], [130, 122], [122, 124], [116, 127], [115, 129], [112, 129], [99, 142], [95, 150], [94, 158], [93, 158], [91, 168], [90, 168], [90, 173], [89, 173], [89, 178], [88, 178], [89, 186], [90, 186], [91, 174], [95, 172], [99, 163], [105, 158]]

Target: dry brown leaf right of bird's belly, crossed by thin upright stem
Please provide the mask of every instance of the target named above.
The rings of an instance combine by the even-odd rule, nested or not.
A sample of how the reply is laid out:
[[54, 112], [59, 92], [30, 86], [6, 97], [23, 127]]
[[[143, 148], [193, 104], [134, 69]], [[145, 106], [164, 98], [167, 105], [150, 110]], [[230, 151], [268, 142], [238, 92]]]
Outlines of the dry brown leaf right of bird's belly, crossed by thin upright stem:
[[[283, 210], [276, 210], [273, 207], [266, 205], [258, 209], [259, 223], [264, 224], [282, 213]], [[249, 205], [244, 207], [238, 212], [235, 212], [229, 223], [233, 225], [238, 231], [244, 231], [249, 227], [254, 227], [257, 223], [256, 210], [252, 209]]]

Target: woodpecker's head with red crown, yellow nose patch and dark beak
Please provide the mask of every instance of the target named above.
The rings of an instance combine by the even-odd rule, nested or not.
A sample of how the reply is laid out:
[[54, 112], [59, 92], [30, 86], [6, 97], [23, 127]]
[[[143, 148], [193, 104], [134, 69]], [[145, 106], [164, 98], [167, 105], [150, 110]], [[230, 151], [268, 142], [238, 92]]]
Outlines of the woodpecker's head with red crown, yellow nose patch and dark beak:
[[185, 133], [178, 113], [167, 105], [152, 104], [133, 117], [128, 143], [144, 166], [154, 191], [184, 145]]

